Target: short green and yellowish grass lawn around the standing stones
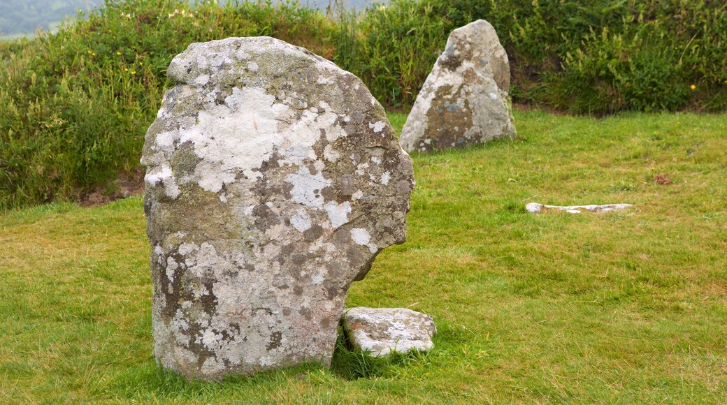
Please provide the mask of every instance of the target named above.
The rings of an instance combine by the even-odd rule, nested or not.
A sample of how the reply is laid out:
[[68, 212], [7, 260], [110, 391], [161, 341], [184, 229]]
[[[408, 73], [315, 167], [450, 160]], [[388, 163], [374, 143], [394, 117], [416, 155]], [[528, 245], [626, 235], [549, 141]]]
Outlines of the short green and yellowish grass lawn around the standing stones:
[[0, 402], [725, 403], [727, 116], [515, 118], [524, 139], [414, 156], [409, 240], [348, 305], [439, 333], [383, 364], [339, 348], [333, 369], [185, 382], [151, 354], [140, 197], [0, 214]]

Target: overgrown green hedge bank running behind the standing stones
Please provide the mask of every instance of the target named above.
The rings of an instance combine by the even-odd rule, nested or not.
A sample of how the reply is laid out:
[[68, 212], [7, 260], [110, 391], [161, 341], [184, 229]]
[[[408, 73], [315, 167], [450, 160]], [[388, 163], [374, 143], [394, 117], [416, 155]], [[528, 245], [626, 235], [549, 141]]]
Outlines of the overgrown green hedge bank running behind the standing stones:
[[449, 32], [483, 18], [510, 57], [515, 102], [599, 114], [727, 108], [720, 1], [392, 0], [321, 12], [297, 2], [107, 0], [82, 17], [0, 44], [0, 208], [76, 200], [137, 171], [172, 57], [229, 36], [305, 46], [406, 109]]

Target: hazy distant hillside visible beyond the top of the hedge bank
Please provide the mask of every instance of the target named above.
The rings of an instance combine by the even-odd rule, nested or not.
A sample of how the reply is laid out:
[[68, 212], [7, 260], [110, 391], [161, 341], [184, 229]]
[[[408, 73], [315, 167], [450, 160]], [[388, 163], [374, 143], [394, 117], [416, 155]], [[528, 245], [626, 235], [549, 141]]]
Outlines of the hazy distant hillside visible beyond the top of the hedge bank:
[[[0, 36], [22, 36], [38, 28], [54, 30], [65, 17], [75, 17], [79, 9], [89, 10], [103, 5], [104, 0], [0, 0]], [[191, 1], [190, 1], [191, 2]], [[227, 0], [219, 0], [220, 4]], [[233, 3], [237, 1], [232, 1]], [[283, 1], [273, 1], [279, 3]], [[302, 6], [325, 9], [333, 0], [299, 0]], [[346, 8], [364, 9], [385, 0], [340, 0]]]

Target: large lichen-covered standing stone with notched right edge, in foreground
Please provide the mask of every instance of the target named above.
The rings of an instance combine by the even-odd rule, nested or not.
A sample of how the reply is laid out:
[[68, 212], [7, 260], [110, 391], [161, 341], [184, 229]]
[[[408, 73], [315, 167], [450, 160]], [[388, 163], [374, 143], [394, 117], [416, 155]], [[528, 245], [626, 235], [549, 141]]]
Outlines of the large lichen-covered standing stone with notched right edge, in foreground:
[[273, 38], [191, 44], [142, 164], [154, 353], [198, 379], [331, 361], [351, 282], [414, 187], [355, 75]]

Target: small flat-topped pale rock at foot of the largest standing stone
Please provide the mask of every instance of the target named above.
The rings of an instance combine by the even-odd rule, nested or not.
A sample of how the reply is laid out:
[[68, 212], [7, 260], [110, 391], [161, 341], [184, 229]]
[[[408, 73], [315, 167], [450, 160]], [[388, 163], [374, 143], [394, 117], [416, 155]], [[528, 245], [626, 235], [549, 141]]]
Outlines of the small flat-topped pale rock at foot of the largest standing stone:
[[343, 315], [343, 330], [356, 348], [371, 356], [393, 351], [427, 351], [437, 332], [431, 316], [407, 308], [350, 308]]

